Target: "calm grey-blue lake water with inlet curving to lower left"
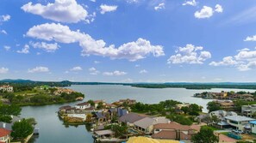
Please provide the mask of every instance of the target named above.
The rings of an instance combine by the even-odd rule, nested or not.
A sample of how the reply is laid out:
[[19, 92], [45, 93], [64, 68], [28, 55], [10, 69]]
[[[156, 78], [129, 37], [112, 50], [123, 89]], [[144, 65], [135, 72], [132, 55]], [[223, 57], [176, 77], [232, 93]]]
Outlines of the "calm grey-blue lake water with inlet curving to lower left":
[[[210, 99], [193, 98], [197, 92], [221, 92], [221, 91], [241, 91], [240, 89], [212, 89], [212, 90], [187, 90], [184, 88], [165, 88], [165, 89], [148, 89], [136, 88], [132, 86], [71, 86], [72, 89], [83, 92], [84, 100], [104, 99], [106, 102], [114, 102], [121, 98], [133, 98], [137, 101], [156, 104], [166, 99], [178, 100], [180, 102], [200, 104], [203, 111], [206, 112], [206, 104]], [[242, 90], [254, 92], [252, 90]], [[77, 103], [72, 103], [77, 104]], [[38, 122], [40, 135], [34, 139], [36, 143], [91, 143], [91, 133], [86, 127], [78, 126], [66, 127], [62, 124], [57, 116], [56, 111], [59, 106], [66, 104], [54, 104], [45, 106], [28, 106], [22, 108], [22, 117], [33, 116]]]

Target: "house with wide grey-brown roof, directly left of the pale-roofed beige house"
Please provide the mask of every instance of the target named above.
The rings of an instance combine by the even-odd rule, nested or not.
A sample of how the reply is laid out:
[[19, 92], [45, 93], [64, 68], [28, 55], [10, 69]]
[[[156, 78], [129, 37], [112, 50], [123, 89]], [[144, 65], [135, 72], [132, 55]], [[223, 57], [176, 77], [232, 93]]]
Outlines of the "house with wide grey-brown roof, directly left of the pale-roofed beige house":
[[134, 126], [134, 122], [143, 119], [145, 116], [140, 116], [136, 113], [128, 113], [124, 116], [119, 117], [118, 122], [122, 122], [128, 125], [128, 127]]

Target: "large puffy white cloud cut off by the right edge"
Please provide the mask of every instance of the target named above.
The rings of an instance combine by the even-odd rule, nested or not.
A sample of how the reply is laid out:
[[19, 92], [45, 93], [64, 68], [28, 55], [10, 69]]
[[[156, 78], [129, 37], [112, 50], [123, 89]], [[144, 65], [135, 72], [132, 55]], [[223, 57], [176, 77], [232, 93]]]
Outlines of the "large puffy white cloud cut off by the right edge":
[[231, 66], [240, 71], [256, 69], [256, 50], [242, 49], [234, 57], [223, 57], [221, 62], [211, 62], [211, 66]]

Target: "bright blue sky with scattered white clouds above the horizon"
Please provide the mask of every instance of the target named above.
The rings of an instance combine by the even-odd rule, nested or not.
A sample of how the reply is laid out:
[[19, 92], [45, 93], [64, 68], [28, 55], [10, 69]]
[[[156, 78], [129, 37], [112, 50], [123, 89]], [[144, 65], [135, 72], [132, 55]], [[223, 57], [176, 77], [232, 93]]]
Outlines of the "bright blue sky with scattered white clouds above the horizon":
[[255, 47], [255, 0], [0, 1], [0, 80], [254, 82]]

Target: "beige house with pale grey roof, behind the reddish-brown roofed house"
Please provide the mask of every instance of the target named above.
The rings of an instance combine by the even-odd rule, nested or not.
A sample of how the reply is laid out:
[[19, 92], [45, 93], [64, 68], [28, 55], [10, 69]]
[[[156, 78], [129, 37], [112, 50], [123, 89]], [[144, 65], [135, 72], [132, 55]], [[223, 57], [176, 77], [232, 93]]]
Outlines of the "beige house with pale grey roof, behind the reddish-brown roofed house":
[[153, 125], [158, 123], [168, 123], [170, 120], [166, 119], [164, 116], [159, 117], [144, 117], [139, 121], [134, 122], [134, 128], [142, 133], [150, 134], [153, 132]]

